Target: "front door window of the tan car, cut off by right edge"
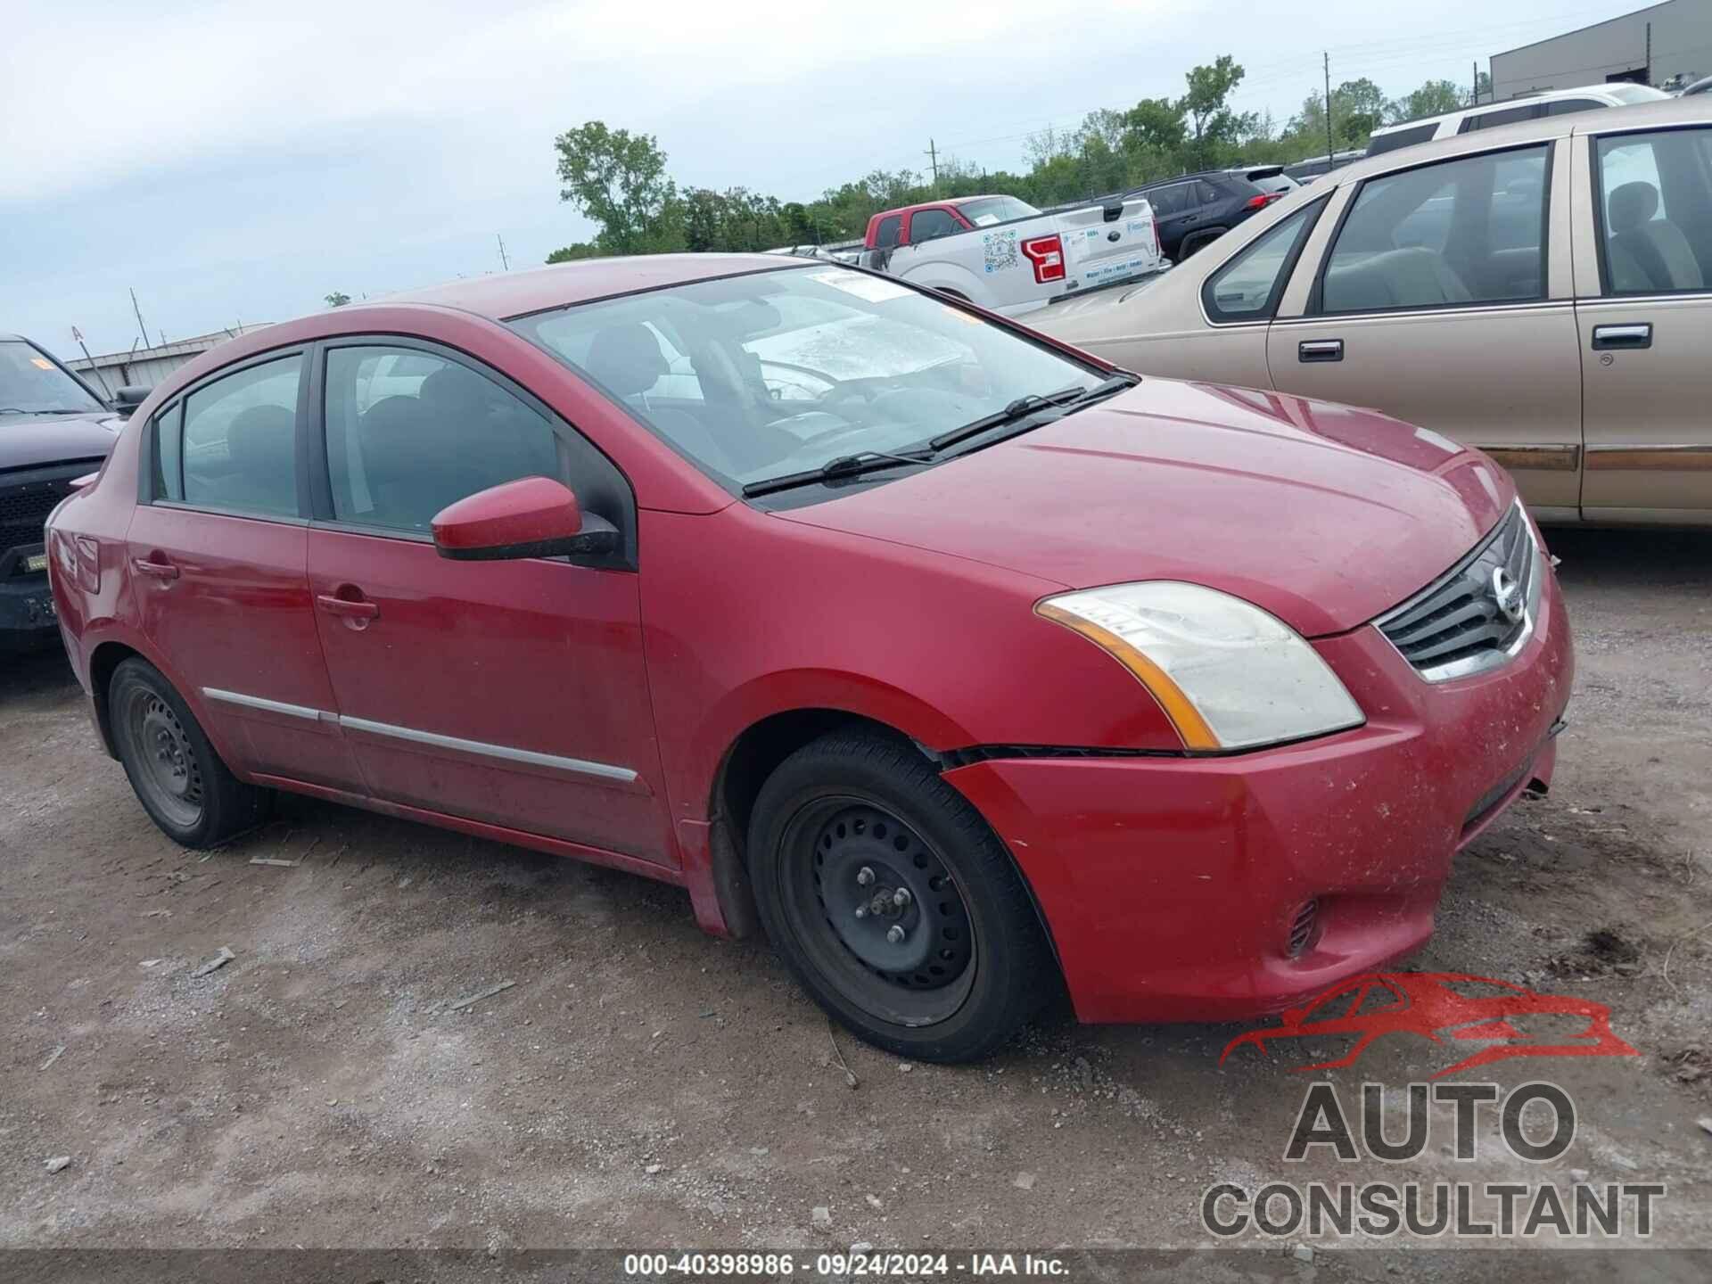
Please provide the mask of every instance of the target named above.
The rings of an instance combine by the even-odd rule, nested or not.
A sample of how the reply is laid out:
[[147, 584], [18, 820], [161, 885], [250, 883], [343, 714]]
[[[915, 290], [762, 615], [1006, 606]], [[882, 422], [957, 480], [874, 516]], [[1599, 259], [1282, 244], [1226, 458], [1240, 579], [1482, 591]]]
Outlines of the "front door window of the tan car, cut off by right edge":
[[1712, 130], [1594, 140], [1599, 262], [1608, 294], [1705, 289], [1712, 281]]

